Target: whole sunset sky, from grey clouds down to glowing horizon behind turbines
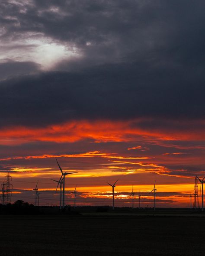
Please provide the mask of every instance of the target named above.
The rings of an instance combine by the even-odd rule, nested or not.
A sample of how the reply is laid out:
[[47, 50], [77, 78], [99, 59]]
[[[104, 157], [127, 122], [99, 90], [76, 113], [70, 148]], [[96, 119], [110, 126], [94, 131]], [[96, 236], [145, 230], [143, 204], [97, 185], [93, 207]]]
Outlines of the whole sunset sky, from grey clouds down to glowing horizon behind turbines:
[[[205, 176], [205, 2], [1, 0], [0, 177], [12, 201], [189, 207]], [[199, 186], [200, 188], [200, 186]]]

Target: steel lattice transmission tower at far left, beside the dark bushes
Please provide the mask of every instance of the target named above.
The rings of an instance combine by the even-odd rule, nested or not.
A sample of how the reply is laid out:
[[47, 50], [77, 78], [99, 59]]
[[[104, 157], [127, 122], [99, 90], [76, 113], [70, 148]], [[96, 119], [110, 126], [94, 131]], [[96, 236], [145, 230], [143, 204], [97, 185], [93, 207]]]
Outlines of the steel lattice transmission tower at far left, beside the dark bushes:
[[3, 181], [3, 184], [1, 185], [2, 188], [2, 194], [1, 194], [1, 200], [2, 204], [10, 204], [11, 202], [11, 194], [12, 194], [12, 189], [13, 185], [10, 183], [12, 181], [11, 175], [8, 173]]

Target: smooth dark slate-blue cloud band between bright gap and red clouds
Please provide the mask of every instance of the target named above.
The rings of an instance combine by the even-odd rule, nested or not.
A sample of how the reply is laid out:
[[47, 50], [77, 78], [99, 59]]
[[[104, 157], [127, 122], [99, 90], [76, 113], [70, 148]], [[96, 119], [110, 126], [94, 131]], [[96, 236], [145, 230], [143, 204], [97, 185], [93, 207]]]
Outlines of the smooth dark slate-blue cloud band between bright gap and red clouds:
[[131, 70], [127, 65], [109, 65], [81, 74], [47, 73], [4, 81], [0, 84], [1, 126], [78, 118], [204, 117], [201, 83], [192, 84], [186, 77], [177, 82], [173, 73], [164, 86], [160, 71], [154, 77], [146, 72], [138, 75], [135, 68], [134, 64]]

